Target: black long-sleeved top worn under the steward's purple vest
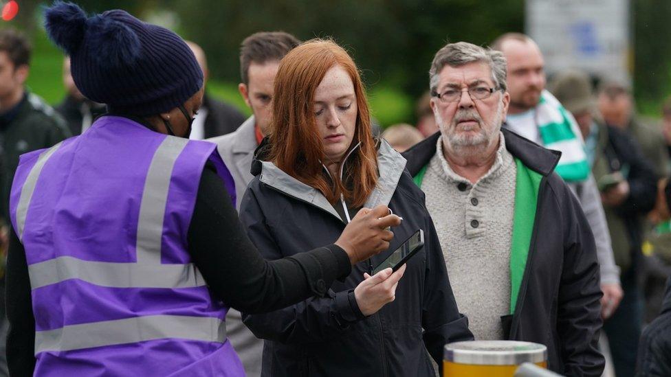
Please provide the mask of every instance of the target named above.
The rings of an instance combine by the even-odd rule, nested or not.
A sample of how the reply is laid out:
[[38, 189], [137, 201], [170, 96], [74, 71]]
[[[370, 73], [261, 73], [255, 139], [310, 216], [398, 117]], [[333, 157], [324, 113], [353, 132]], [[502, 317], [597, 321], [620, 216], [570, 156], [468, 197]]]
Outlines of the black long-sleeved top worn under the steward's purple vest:
[[[188, 231], [189, 252], [212, 293], [228, 306], [256, 313], [324, 295], [334, 279], [351, 271], [349, 257], [335, 244], [267, 262], [238, 220], [223, 182], [207, 168], [202, 175]], [[7, 262], [7, 358], [11, 376], [32, 376], [35, 319], [25, 250], [11, 232]]]

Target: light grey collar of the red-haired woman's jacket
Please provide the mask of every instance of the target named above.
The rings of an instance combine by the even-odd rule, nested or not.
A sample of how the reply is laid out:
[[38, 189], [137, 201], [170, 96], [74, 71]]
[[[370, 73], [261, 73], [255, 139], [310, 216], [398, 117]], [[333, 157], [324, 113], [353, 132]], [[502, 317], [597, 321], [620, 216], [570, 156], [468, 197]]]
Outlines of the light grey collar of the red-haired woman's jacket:
[[[329, 203], [327, 198], [319, 191], [305, 183], [298, 181], [293, 176], [285, 173], [270, 161], [261, 161], [265, 155], [267, 143], [264, 142], [257, 148], [252, 163], [252, 174], [260, 174], [259, 180], [270, 187], [297, 198], [300, 201], [310, 203], [315, 207], [329, 212], [340, 220], [340, 215]], [[351, 154], [353, 155], [353, 154]], [[388, 205], [396, 191], [401, 179], [401, 174], [406, 166], [406, 159], [395, 151], [386, 141], [381, 140], [377, 149], [377, 172], [380, 178], [377, 185], [364, 203], [364, 207], [372, 208], [380, 204]]]

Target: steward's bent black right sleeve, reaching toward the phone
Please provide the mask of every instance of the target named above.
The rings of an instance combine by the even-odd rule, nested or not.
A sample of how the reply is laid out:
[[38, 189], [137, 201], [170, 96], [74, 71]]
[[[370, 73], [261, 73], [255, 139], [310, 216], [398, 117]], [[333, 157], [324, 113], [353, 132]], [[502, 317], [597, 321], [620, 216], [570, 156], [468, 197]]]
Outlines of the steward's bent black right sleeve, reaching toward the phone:
[[250, 241], [223, 182], [203, 170], [188, 248], [214, 295], [241, 312], [270, 312], [324, 295], [333, 280], [351, 271], [349, 257], [335, 244], [266, 261]]

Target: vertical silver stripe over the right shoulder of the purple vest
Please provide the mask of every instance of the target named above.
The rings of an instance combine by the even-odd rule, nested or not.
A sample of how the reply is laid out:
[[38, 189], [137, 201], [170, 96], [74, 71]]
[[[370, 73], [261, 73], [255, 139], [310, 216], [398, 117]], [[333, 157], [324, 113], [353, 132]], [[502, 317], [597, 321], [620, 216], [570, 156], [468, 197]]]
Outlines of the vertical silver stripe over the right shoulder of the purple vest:
[[137, 220], [135, 251], [138, 264], [161, 264], [161, 238], [170, 176], [173, 175], [177, 157], [187, 143], [188, 139], [168, 136], [151, 160], [142, 192], [140, 218]]

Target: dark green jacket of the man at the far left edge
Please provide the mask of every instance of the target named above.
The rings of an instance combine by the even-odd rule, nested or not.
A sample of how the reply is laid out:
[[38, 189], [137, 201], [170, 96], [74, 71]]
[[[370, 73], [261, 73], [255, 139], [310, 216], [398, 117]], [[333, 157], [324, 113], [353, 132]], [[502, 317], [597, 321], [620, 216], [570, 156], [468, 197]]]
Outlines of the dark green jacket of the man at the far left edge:
[[14, 172], [19, 165], [19, 156], [32, 150], [49, 148], [71, 136], [61, 115], [33, 93], [26, 92], [17, 108], [10, 110], [9, 113], [11, 113], [9, 116], [0, 117], [2, 137], [0, 208], [4, 218], [7, 218], [9, 213], [9, 192]]

